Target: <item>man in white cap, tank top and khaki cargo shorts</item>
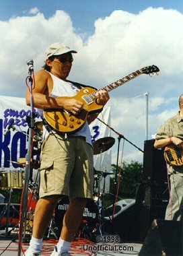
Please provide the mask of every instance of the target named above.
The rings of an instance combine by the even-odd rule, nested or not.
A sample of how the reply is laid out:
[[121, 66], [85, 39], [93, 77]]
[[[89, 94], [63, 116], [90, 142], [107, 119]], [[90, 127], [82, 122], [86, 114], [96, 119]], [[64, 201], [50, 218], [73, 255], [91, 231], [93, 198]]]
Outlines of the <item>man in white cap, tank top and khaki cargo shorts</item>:
[[[83, 102], [74, 98], [82, 85], [67, 80], [73, 63], [72, 53], [77, 52], [60, 42], [51, 44], [46, 50], [44, 69], [35, 73], [33, 82], [34, 106], [40, 112], [46, 109], [54, 112], [57, 109], [77, 116], [83, 110]], [[96, 93], [96, 104], [101, 107], [108, 100], [105, 90]], [[30, 90], [27, 91], [26, 102], [30, 105]], [[54, 206], [63, 195], [69, 196], [70, 203], [63, 219], [61, 238], [51, 255], [69, 255], [71, 241], [81, 223], [87, 199], [93, 197], [93, 148], [88, 124], [97, 116], [96, 113], [88, 115], [81, 129], [71, 134], [58, 131], [50, 125], [44, 127], [40, 199], [36, 204], [32, 239], [26, 256], [41, 255], [44, 232]], [[54, 115], [54, 120], [59, 122], [57, 115]]]

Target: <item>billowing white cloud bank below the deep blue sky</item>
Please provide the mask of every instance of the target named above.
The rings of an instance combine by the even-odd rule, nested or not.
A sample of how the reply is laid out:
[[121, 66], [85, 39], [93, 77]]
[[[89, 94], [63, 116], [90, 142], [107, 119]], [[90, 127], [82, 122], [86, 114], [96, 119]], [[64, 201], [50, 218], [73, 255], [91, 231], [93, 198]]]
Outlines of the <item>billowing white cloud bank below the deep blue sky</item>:
[[[159, 67], [159, 76], [141, 75], [110, 93], [112, 127], [139, 148], [145, 139], [145, 92], [149, 92], [149, 138], [161, 122], [176, 115], [182, 94], [182, 13], [163, 8], [138, 14], [113, 11], [96, 20], [95, 33], [87, 42], [65, 11], [48, 19], [36, 7], [29, 13], [34, 15], [0, 21], [1, 94], [24, 97], [26, 61], [34, 59], [34, 69], [40, 69], [46, 47], [60, 41], [78, 51], [69, 78], [97, 88], [141, 67]], [[138, 150], [127, 145], [125, 155], [137, 158]]]

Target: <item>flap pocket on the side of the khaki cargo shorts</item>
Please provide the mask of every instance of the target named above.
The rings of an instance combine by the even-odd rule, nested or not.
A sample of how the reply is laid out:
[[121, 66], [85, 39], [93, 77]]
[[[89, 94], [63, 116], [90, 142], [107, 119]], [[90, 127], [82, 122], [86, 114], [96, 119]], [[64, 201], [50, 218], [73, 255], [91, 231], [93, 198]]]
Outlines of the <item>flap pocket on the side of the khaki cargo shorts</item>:
[[40, 165], [40, 189], [43, 191], [54, 190], [53, 161], [44, 161]]

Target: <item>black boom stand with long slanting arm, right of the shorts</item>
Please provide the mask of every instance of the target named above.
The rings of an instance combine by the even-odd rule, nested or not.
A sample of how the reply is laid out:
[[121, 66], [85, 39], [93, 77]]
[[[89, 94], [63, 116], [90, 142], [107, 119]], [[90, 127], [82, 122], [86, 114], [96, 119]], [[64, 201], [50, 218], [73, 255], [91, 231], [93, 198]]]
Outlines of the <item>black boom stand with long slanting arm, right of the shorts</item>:
[[135, 146], [135, 144], [133, 144], [131, 141], [129, 141], [129, 139], [126, 139], [126, 137], [124, 137], [124, 135], [118, 133], [118, 131], [114, 130], [112, 127], [110, 127], [110, 125], [106, 124], [104, 121], [102, 121], [101, 119], [99, 119], [97, 117], [97, 119], [99, 121], [101, 121], [102, 123], [104, 123], [104, 125], [106, 125], [109, 129], [111, 129], [112, 131], [114, 131], [114, 133], [116, 133], [118, 135], [118, 151], [117, 151], [117, 159], [116, 159], [116, 172], [115, 172], [115, 180], [114, 180], [114, 184], [116, 185], [115, 187], [115, 195], [114, 195], [114, 201], [113, 201], [113, 211], [114, 212], [114, 206], [115, 206], [115, 196], [116, 196], [116, 191], [117, 191], [117, 178], [118, 178], [118, 158], [119, 158], [119, 150], [120, 150], [120, 139], [124, 139], [126, 141], [128, 141], [129, 143], [131, 143], [131, 145], [133, 145], [135, 148], [137, 148], [138, 150], [140, 150], [141, 152], [143, 152], [143, 150], [141, 150], [140, 148], [138, 148], [137, 146]]

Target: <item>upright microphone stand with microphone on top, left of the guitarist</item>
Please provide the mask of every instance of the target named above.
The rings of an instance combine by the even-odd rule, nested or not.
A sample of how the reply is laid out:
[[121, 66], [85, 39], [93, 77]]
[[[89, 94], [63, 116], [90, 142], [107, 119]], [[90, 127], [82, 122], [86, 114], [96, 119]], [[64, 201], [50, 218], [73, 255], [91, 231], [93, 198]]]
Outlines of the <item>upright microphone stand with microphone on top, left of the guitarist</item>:
[[28, 182], [30, 179], [30, 161], [31, 161], [31, 148], [32, 148], [32, 133], [34, 129], [34, 101], [32, 97], [32, 85], [33, 79], [32, 75], [34, 75], [34, 66], [33, 61], [28, 61], [27, 65], [29, 66], [28, 69], [28, 79], [30, 83], [30, 129], [28, 135], [28, 151], [26, 153], [26, 169], [25, 169], [25, 181], [24, 181], [24, 188], [22, 190], [22, 207], [20, 211], [20, 228], [19, 228], [19, 246], [18, 246], [18, 256], [21, 256], [22, 251], [22, 238], [23, 232], [24, 236], [26, 234], [26, 216], [27, 216], [27, 208], [28, 208]]

